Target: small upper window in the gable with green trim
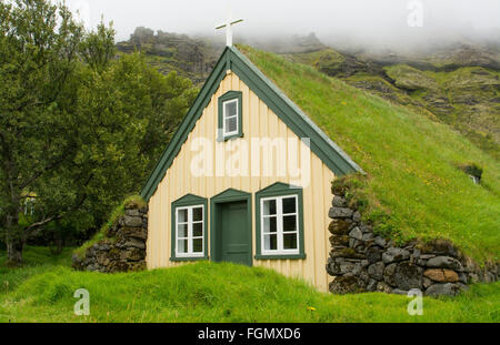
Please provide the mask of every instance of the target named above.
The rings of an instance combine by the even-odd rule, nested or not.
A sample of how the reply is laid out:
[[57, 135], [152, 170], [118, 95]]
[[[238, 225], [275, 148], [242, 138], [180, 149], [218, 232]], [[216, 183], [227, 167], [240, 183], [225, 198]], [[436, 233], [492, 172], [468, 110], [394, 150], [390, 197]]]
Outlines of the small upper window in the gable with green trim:
[[229, 91], [219, 98], [219, 141], [241, 138], [242, 93]]

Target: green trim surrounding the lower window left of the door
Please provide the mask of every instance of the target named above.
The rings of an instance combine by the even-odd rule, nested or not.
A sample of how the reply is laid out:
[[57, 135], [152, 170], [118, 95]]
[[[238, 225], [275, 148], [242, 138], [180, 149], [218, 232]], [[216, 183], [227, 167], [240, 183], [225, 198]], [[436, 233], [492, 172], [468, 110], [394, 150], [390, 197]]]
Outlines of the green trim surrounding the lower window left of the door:
[[[177, 209], [203, 206], [203, 256], [180, 257], [176, 253], [177, 244]], [[187, 194], [181, 199], [172, 202], [171, 204], [171, 247], [170, 247], [170, 261], [171, 262], [194, 262], [209, 260], [209, 246], [208, 246], [208, 199], [197, 196], [193, 194]]]

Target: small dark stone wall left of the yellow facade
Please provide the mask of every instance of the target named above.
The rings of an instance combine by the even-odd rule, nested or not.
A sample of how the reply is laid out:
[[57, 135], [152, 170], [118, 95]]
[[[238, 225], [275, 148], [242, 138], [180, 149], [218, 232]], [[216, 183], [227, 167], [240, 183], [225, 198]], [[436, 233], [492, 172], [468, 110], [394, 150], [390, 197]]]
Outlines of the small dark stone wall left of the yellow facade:
[[148, 210], [126, 205], [124, 214], [104, 233], [106, 239], [87, 248], [83, 257], [73, 255], [73, 268], [102, 273], [146, 268]]

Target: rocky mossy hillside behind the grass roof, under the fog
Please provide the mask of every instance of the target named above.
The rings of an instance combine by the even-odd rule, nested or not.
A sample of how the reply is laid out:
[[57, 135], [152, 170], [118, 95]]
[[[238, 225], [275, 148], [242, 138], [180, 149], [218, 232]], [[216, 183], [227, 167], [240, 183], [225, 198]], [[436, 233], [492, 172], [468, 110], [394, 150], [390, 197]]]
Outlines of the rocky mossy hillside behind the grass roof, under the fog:
[[500, 54], [494, 49], [460, 47], [429, 55], [381, 57], [328, 48], [286, 57], [427, 112], [500, 159]]

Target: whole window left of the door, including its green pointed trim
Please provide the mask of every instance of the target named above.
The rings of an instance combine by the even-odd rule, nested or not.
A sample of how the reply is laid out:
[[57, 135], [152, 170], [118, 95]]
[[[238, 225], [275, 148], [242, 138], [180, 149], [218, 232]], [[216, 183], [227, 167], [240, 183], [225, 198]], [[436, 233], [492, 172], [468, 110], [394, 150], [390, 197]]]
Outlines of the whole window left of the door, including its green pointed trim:
[[191, 194], [172, 203], [171, 261], [208, 260], [207, 203]]

